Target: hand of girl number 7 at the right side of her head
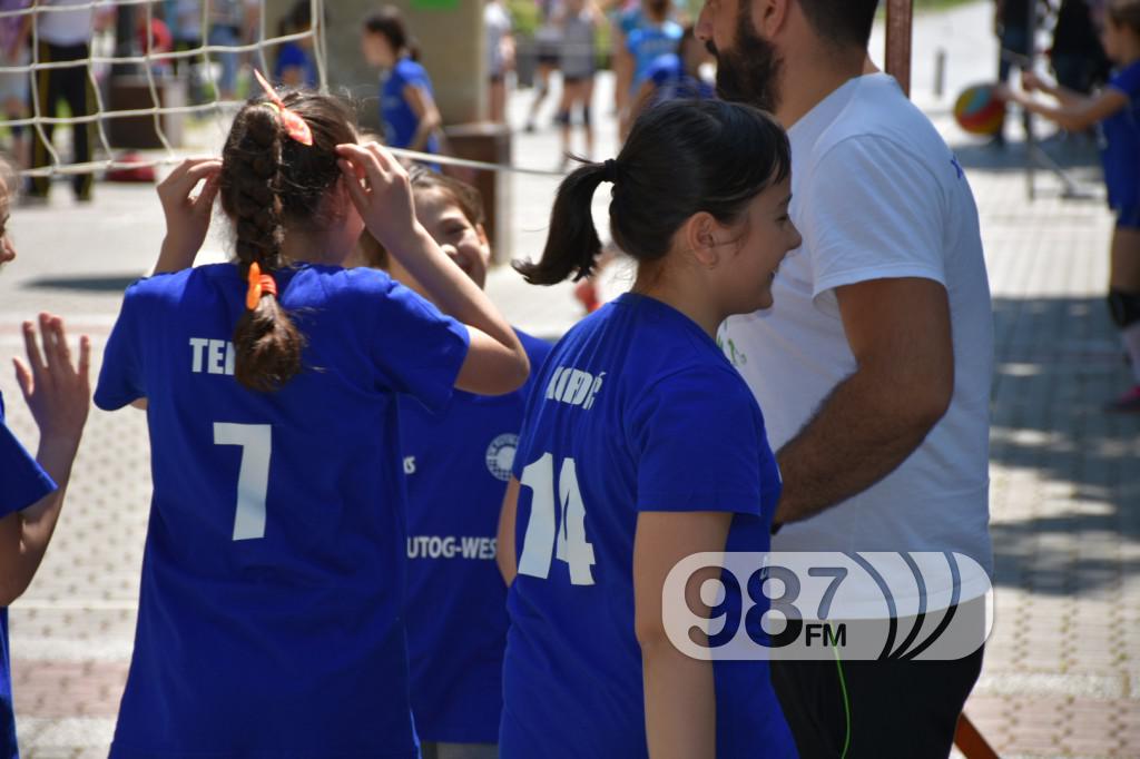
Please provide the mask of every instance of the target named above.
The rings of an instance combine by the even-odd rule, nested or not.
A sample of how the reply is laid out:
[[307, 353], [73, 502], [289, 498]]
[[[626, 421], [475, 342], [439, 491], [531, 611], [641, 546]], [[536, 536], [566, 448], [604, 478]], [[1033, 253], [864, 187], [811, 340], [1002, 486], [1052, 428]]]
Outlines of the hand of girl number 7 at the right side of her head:
[[349, 195], [373, 237], [397, 253], [415, 236], [415, 204], [408, 172], [376, 142], [337, 145]]

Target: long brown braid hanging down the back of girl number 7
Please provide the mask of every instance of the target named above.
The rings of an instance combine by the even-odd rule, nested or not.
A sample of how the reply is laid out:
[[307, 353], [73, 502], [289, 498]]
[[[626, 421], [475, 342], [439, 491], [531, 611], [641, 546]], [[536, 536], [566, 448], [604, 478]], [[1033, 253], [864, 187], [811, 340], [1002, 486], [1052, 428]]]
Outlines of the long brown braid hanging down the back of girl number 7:
[[[243, 280], [256, 263], [267, 275], [282, 268], [282, 134], [277, 113], [264, 104], [238, 114], [223, 152], [222, 209], [237, 231]], [[234, 330], [235, 378], [245, 387], [274, 392], [301, 372], [304, 338], [272, 292], [263, 288]]]

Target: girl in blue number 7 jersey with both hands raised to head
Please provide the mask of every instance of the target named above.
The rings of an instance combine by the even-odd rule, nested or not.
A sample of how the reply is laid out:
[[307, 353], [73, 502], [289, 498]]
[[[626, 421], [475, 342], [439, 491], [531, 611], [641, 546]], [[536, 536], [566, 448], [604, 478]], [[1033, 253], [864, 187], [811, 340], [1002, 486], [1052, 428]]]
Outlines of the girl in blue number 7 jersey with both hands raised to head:
[[[184, 179], [174, 253], [209, 222]], [[111, 756], [412, 759], [397, 406], [511, 392], [526, 353], [334, 98], [251, 100], [211, 181], [236, 261], [132, 285], [96, 390], [145, 402], [154, 481]], [[439, 309], [341, 268], [365, 226]]]

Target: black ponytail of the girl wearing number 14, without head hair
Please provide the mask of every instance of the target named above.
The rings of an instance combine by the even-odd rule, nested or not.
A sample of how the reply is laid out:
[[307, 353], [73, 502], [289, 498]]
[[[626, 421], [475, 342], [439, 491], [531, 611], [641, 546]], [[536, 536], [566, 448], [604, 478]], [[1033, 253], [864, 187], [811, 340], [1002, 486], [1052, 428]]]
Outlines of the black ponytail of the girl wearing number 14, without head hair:
[[580, 166], [559, 186], [551, 211], [551, 230], [543, 258], [537, 262], [515, 261], [514, 268], [531, 285], [554, 285], [571, 274], [575, 281], [588, 277], [602, 252], [602, 240], [594, 227], [591, 206], [597, 187], [612, 181], [617, 164], [612, 161]]

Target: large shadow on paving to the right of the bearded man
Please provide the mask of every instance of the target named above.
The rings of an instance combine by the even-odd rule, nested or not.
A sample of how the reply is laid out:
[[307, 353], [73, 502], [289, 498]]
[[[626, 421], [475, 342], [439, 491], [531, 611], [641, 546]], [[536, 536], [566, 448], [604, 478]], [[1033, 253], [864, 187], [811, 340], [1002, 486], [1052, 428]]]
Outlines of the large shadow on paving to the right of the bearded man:
[[[996, 585], [1049, 595], [1118, 588], [1140, 572], [1140, 414], [1104, 402], [1131, 382], [1099, 297], [994, 299], [991, 472], [1020, 519], [991, 525]], [[1035, 491], [1028, 492], [1029, 488]], [[1033, 500], [1028, 500], [1033, 499]], [[1032, 514], [1026, 516], [1026, 508]]]

